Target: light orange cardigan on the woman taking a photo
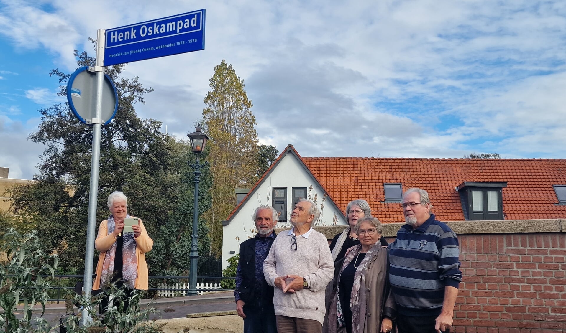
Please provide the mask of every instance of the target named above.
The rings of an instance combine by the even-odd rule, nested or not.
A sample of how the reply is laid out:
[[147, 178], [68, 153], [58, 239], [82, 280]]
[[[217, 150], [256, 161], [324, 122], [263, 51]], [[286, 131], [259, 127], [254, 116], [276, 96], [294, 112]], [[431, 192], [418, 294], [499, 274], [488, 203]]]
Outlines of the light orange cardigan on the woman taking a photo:
[[[133, 217], [133, 216], [132, 216]], [[136, 238], [136, 260], [138, 261], [138, 278], [134, 284], [136, 289], [147, 289], [148, 288], [148, 269], [147, 262], [145, 262], [145, 253], [151, 251], [153, 247], [153, 240], [149, 238], [147, 230], [139, 220], [141, 227], [141, 235]], [[102, 221], [100, 227], [98, 227], [98, 236], [95, 240], [95, 248], [100, 251], [100, 257], [98, 257], [98, 263], [96, 265], [96, 279], [92, 284], [92, 289], [100, 289], [100, 279], [102, 276], [102, 265], [104, 264], [104, 258], [106, 257], [106, 251], [108, 251], [116, 240], [112, 234], [108, 233], [108, 220]]]

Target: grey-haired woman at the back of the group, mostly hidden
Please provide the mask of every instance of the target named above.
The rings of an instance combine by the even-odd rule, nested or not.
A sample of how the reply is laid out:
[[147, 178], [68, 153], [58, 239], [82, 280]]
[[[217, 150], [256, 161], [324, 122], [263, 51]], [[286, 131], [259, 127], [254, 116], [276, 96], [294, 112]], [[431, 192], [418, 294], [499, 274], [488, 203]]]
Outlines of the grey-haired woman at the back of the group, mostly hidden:
[[[371, 217], [371, 208], [366, 200], [357, 199], [348, 203], [348, 206], [346, 206], [346, 222], [348, 222], [349, 226], [341, 233], [338, 233], [332, 240], [332, 243], [330, 243], [332, 258], [335, 262], [344, 258], [346, 250], [359, 244], [358, 235], [356, 235], [354, 227], [358, 220], [365, 217]], [[383, 246], [388, 245], [387, 240], [383, 237], [381, 237], [380, 242]]]

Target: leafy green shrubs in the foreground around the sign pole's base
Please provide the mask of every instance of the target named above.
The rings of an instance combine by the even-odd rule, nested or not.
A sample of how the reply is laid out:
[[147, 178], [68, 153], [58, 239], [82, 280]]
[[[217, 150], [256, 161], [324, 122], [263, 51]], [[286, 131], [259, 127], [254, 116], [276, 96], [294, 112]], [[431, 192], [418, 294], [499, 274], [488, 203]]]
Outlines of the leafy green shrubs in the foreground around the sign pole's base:
[[[57, 269], [58, 257], [42, 250], [37, 231], [25, 235], [14, 228], [2, 236], [2, 254], [6, 258], [0, 262], [0, 333], [47, 333], [58, 330], [46, 319], [41, 318], [45, 312], [45, 304], [49, 293], [53, 291], [54, 270]], [[41, 275], [50, 275], [43, 278]], [[87, 326], [80, 326], [80, 315], [71, 315], [63, 326], [68, 333], [162, 333], [161, 327], [148, 321], [149, 315], [156, 313], [155, 308], [141, 309], [139, 301], [144, 291], [135, 290], [133, 295], [113, 284], [106, 287], [112, 306], [108, 306], [104, 315], [99, 316], [100, 296], [73, 296], [68, 300], [67, 308], [72, 309], [78, 303], [86, 309], [93, 320]], [[101, 295], [101, 294], [99, 294]], [[128, 297], [130, 305], [125, 308]], [[33, 305], [41, 304], [41, 315], [32, 318], [35, 313]], [[20, 309], [18, 309], [20, 308]], [[18, 316], [16, 317], [16, 311]]]

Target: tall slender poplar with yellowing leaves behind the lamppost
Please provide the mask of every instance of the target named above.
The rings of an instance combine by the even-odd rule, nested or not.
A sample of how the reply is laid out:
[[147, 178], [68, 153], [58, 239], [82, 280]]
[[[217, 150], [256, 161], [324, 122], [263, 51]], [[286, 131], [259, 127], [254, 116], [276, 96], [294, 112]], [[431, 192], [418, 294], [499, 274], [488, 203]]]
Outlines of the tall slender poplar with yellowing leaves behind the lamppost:
[[212, 243], [210, 253], [222, 253], [222, 223], [234, 209], [235, 188], [255, 183], [258, 170], [258, 134], [244, 81], [224, 59], [209, 80], [211, 91], [204, 98], [203, 122], [211, 138], [212, 207], [205, 213]]

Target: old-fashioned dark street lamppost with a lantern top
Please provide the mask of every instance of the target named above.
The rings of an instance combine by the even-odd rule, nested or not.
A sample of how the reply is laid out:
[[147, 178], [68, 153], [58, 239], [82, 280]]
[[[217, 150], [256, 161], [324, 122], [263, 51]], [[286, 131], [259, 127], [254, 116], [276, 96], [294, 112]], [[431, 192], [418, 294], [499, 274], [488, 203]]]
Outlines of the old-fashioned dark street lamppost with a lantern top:
[[208, 165], [208, 162], [204, 164], [199, 164], [199, 154], [203, 152], [204, 146], [207, 144], [208, 136], [202, 132], [200, 124], [195, 127], [195, 132], [187, 134], [188, 139], [191, 140], [192, 152], [195, 153], [196, 163], [191, 164], [187, 162], [190, 167], [195, 171], [192, 172], [195, 175], [195, 206], [194, 212], [192, 214], [192, 242], [191, 242], [191, 252], [189, 258], [191, 259], [191, 267], [189, 271], [189, 287], [188, 295], [197, 295], [196, 291], [196, 267], [199, 262], [199, 246], [198, 246], [198, 219], [199, 219], [199, 181], [200, 181], [200, 170]]

